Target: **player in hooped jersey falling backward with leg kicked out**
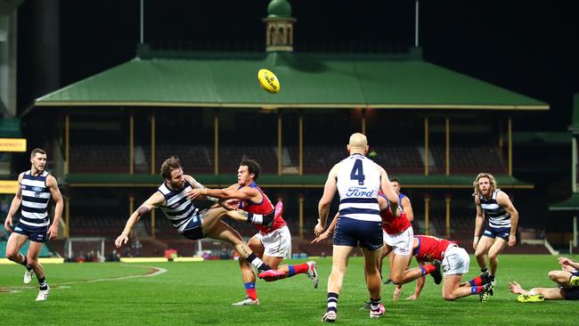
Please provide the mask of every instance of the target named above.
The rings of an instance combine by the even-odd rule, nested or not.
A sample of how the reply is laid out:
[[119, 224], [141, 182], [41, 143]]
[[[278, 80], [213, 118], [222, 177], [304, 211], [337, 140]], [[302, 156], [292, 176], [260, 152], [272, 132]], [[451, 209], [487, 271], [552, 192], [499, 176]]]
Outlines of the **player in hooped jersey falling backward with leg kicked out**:
[[222, 221], [228, 209], [236, 208], [237, 203], [216, 200], [219, 205], [210, 208], [196, 207], [196, 204], [189, 200], [185, 193], [192, 189], [203, 188], [203, 185], [193, 179], [191, 175], [183, 174], [181, 162], [176, 157], [171, 157], [163, 162], [161, 175], [163, 175], [165, 182], [128, 218], [125, 229], [115, 240], [117, 248], [126, 244], [129, 233], [141, 216], [154, 208], [160, 208], [183, 237], [191, 240], [205, 237], [223, 240], [231, 244], [240, 257], [256, 266], [258, 271], [263, 272], [271, 269], [249, 249], [239, 232]]

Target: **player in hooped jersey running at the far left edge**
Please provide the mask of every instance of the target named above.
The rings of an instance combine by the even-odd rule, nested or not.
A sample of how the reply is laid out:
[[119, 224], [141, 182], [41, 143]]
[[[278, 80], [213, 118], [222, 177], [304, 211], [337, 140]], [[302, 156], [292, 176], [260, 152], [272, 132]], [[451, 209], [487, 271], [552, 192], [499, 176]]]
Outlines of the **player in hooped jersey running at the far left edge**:
[[[32, 281], [34, 274], [37, 275], [40, 290], [37, 301], [45, 301], [50, 293], [50, 287], [46, 282], [45, 270], [38, 262], [38, 255], [45, 241], [54, 239], [58, 235], [58, 224], [61, 220], [63, 200], [58, 183], [53, 175], [45, 171], [46, 152], [34, 149], [30, 152], [29, 171], [22, 172], [18, 176], [20, 187], [14, 195], [8, 216], [4, 221], [4, 228], [12, 232], [6, 243], [6, 257], [16, 264], [26, 267], [24, 283]], [[56, 204], [54, 208], [53, 223], [48, 216], [48, 204], [50, 199]], [[20, 208], [21, 217], [16, 226], [12, 225], [14, 215]], [[29, 240], [29, 252], [27, 256], [20, 254], [20, 248]]]

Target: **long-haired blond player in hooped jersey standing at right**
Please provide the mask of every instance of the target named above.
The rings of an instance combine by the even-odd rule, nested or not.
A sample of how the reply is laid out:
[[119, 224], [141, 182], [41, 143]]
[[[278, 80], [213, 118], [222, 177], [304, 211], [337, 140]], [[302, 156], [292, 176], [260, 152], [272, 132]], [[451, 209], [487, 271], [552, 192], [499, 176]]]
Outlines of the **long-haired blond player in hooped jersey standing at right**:
[[[473, 187], [475, 189], [473, 196], [477, 206], [477, 218], [472, 248], [476, 250], [477, 263], [483, 273], [487, 271], [485, 254], [488, 255], [491, 265], [489, 273], [494, 282], [494, 276], [499, 266], [497, 257], [507, 245], [512, 247], [517, 243], [518, 211], [513, 206], [509, 196], [497, 189], [493, 175], [479, 173], [473, 182]], [[479, 238], [485, 222], [485, 215], [488, 216], [488, 227], [483, 236]]]

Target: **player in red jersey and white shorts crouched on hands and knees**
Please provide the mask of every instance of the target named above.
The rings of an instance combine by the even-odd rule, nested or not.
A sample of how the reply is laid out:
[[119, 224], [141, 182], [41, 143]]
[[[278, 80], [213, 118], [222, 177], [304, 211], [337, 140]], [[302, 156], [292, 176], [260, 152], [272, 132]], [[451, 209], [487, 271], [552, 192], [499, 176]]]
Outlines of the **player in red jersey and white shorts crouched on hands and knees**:
[[[453, 241], [438, 239], [428, 235], [417, 235], [413, 240], [412, 254], [420, 264], [439, 260], [444, 273], [443, 297], [445, 300], [455, 300], [459, 297], [478, 295], [481, 301], [488, 300], [493, 295], [493, 284], [488, 273], [482, 273], [474, 279], [462, 283], [462, 275], [469, 272], [470, 257], [465, 249]], [[407, 299], [413, 300], [420, 296], [424, 287], [424, 278], [416, 281], [416, 289]], [[402, 287], [397, 286], [400, 292]]]

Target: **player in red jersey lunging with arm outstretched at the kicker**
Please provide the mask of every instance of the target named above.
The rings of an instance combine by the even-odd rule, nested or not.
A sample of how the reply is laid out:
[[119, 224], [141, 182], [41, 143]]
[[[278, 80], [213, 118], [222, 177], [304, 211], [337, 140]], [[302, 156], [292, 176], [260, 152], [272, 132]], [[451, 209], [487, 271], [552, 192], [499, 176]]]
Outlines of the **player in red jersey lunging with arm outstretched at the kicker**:
[[[239, 207], [242, 212], [246, 212], [244, 215], [247, 217], [236, 218], [234, 214], [228, 214], [228, 216], [247, 220], [257, 227], [259, 232], [249, 239], [249, 248], [256, 253], [257, 257], [262, 258], [265, 264], [272, 267], [267, 273], [259, 273], [258, 276], [265, 281], [276, 281], [298, 273], [306, 273], [314, 281], [314, 288], [317, 288], [317, 266], [314, 261], [279, 267], [283, 258], [290, 252], [291, 234], [283, 217], [281, 217], [283, 209], [281, 201], [273, 208], [272, 202], [257, 186], [256, 180], [260, 171], [261, 167], [257, 161], [243, 158], [237, 171], [237, 183], [224, 189], [193, 189], [188, 193], [188, 197], [192, 200], [204, 195], [219, 199], [239, 200]], [[234, 303], [233, 306], [259, 305], [256, 292], [256, 274], [245, 259], [240, 259], [240, 265], [247, 297]]]

